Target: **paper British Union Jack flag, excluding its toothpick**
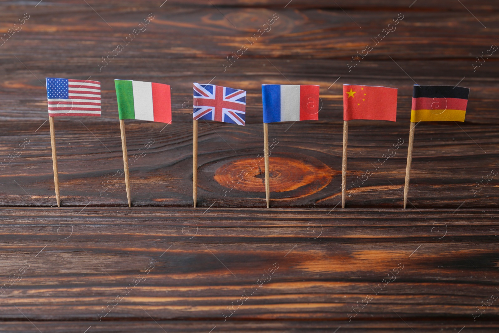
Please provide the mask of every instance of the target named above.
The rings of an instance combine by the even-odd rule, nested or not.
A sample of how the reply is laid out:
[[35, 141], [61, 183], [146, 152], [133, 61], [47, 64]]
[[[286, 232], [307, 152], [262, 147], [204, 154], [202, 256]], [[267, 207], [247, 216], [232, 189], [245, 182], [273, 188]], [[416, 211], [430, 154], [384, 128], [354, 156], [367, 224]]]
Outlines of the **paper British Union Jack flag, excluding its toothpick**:
[[194, 83], [194, 120], [245, 125], [246, 91], [214, 84]]

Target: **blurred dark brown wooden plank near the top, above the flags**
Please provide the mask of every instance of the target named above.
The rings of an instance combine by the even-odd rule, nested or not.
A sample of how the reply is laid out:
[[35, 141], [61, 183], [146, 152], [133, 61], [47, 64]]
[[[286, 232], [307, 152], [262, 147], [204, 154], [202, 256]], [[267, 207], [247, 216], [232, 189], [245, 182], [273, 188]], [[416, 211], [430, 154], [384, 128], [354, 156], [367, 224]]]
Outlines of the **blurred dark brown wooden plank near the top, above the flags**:
[[[169, 2], [165, 7], [168, 5]], [[1, 45], [2, 58], [16, 63], [13, 57], [16, 55], [24, 62], [32, 58], [29, 52], [36, 49], [36, 58], [41, 60], [45, 72], [59, 71], [60, 61], [53, 57], [57, 50], [66, 58], [79, 59], [67, 64], [79, 67], [87, 63], [94, 72], [99, 72], [97, 63], [104, 66], [106, 62], [102, 57], [110, 56], [109, 65], [101, 68], [101, 72], [106, 72], [116, 66], [115, 60], [119, 58], [141, 60], [140, 53], [143, 58], [158, 55], [162, 59], [216, 58], [223, 69], [222, 63], [230, 64], [227, 57], [232, 56], [232, 52], [236, 54], [232, 59], [236, 63], [237, 54], [241, 58], [342, 59], [346, 63], [371, 44], [373, 50], [364, 51], [366, 59], [389, 60], [389, 56], [394, 59], [466, 59], [471, 68], [471, 63], [477, 61], [476, 56], [481, 56], [482, 51], [487, 53], [492, 44], [498, 43], [492, 22], [498, 20], [499, 14], [494, 10], [470, 14], [459, 2], [453, 5], [452, 11], [444, 12], [378, 8], [374, 12], [352, 10], [349, 14], [339, 8], [283, 7], [224, 7], [222, 14], [220, 8], [211, 5], [125, 7], [119, 12], [112, 6], [97, 5], [94, 9], [102, 19], [85, 3], [24, 9], [30, 18], [21, 31]], [[11, 24], [6, 22], [15, 22], [23, 13], [21, 8], [9, 10], [9, 15], [2, 17], [5, 21], [2, 27], [10, 28]], [[46, 20], [48, 15], [50, 21]], [[150, 23], [139, 27], [148, 17], [151, 17]], [[273, 22], [270, 26], [269, 19]], [[394, 19], [397, 25], [393, 25]], [[136, 36], [132, 34], [133, 38], [125, 40], [138, 28], [143, 32], [135, 30]], [[113, 55], [118, 44], [123, 50]], [[238, 53], [243, 44], [248, 50]], [[48, 59], [54, 61], [54, 67], [48, 66], [45, 62]], [[492, 61], [487, 57], [484, 60]], [[73, 72], [81, 73], [81, 70]]]

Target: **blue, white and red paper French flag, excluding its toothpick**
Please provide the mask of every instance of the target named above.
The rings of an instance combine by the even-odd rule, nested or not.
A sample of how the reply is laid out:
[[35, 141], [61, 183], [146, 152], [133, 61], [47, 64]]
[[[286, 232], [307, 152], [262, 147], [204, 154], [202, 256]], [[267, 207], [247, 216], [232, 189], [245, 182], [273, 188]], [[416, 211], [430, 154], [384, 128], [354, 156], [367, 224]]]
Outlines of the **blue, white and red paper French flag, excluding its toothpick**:
[[262, 84], [263, 122], [319, 120], [319, 86]]

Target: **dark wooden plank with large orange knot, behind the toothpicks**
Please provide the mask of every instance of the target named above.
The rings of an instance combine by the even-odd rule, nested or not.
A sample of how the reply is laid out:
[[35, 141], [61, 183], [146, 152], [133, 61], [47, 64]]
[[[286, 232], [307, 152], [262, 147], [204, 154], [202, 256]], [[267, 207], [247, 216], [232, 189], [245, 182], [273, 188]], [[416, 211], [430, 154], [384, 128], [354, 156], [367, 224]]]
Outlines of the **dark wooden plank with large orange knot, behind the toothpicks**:
[[[58, 120], [62, 206], [127, 206], [117, 121], [82, 120]], [[41, 123], [24, 122], [23, 133], [12, 127], [11, 135], [1, 137], [3, 156], [18, 154], [13, 149], [24, 138], [29, 140], [21, 155], [4, 165], [3, 206], [55, 204], [48, 126], [36, 131]], [[297, 123], [288, 129], [289, 125], [270, 126], [272, 207], [335, 207], [341, 196], [339, 125]], [[136, 160], [130, 167], [133, 205], [191, 207], [192, 126], [182, 123], [162, 131], [163, 127], [133, 121], [127, 125], [130, 162]], [[400, 125], [389, 133], [385, 124], [369, 124], [369, 132], [365, 128], [354, 122], [350, 127], [347, 207], [400, 208], [407, 128]], [[200, 207], [265, 206], [261, 131], [260, 124], [200, 123]], [[495, 125], [484, 131], [473, 124], [420, 124], [408, 207], [497, 207], [499, 187], [491, 174], [498, 170], [497, 132]]]

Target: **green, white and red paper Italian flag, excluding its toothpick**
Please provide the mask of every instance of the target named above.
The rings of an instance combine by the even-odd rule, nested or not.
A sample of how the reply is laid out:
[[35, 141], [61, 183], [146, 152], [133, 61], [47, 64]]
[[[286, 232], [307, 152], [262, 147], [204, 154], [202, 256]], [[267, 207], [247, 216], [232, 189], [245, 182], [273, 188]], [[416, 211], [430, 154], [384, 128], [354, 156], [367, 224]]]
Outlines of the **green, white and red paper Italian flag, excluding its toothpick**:
[[168, 84], [114, 80], [120, 119], [172, 123], [172, 103]]

